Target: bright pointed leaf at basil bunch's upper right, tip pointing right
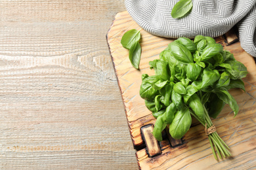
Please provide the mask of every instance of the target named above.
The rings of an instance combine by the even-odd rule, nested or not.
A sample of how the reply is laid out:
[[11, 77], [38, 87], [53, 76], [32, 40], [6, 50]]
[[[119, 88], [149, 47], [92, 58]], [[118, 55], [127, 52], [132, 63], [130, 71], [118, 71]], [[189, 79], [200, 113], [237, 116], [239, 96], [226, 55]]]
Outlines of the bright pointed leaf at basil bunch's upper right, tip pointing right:
[[212, 58], [219, 52], [223, 50], [223, 46], [221, 44], [208, 44], [201, 55], [201, 61], [206, 61], [209, 58]]

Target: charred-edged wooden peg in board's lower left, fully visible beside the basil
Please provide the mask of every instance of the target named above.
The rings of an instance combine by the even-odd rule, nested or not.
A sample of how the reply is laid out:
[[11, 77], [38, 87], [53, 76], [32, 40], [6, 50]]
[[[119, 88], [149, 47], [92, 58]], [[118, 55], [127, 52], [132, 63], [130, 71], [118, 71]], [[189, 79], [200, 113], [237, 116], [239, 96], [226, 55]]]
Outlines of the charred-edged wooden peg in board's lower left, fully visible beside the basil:
[[146, 150], [148, 150], [148, 156], [154, 157], [161, 154], [161, 148], [158, 141], [153, 136], [152, 131], [154, 126], [152, 124], [141, 127], [142, 138], [146, 144]]

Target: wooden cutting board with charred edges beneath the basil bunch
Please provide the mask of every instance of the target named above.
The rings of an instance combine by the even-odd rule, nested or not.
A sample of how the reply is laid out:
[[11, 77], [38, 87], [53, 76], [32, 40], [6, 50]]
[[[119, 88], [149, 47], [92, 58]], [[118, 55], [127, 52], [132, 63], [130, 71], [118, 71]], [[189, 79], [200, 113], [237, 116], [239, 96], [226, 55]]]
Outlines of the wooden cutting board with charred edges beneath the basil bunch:
[[[182, 141], [173, 140], [168, 133], [163, 133], [165, 139], [158, 143], [152, 137], [152, 129], [156, 119], [146, 109], [144, 99], [140, 98], [139, 89], [141, 75], [154, 75], [150, 70], [149, 61], [159, 58], [159, 54], [173, 39], [156, 37], [141, 29], [142, 55], [140, 70], [132, 67], [128, 50], [120, 44], [123, 34], [130, 29], [140, 29], [128, 12], [116, 14], [111, 25], [107, 42], [110, 48], [117, 82], [123, 97], [127, 123], [131, 139], [137, 149], [139, 169], [249, 169], [256, 165], [256, 65], [255, 60], [240, 46], [234, 31], [217, 37], [224, 49], [232, 52], [235, 58], [244, 63], [248, 75], [243, 79], [246, 92], [230, 90], [240, 107], [240, 112], [234, 114], [226, 105], [218, 118], [213, 120], [222, 139], [230, 146], [232, 158], [216, 161], [205, 136], [204, 127], [192, 121], [192, 127], [184, 135]], [[234, 42], [234, 43], [232, 43]], [[256, 168], [256, 167], [255, 167]]]

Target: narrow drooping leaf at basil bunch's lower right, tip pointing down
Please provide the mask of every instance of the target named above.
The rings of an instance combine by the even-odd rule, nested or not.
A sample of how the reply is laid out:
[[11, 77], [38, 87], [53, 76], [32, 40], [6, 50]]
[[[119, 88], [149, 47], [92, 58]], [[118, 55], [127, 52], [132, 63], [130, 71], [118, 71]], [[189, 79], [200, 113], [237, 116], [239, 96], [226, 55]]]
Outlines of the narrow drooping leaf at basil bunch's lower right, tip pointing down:
[[214, 91], [214, 93], [217, 94], [219, 99], [221, 99], [222, 101], [224, 101], [224, 103], [226, 103], [230, 106], [230, 108], [234, 111], [234, 116], [236, 116], [236, 114], [238, 114], [238, 111], [239, 111], [238, 103], [236, 103], [236, 100], [234, 99], [234, 97], [232, 95], [230, 95], [228, 90], [226, 90], [224, 88], [216, 89]]

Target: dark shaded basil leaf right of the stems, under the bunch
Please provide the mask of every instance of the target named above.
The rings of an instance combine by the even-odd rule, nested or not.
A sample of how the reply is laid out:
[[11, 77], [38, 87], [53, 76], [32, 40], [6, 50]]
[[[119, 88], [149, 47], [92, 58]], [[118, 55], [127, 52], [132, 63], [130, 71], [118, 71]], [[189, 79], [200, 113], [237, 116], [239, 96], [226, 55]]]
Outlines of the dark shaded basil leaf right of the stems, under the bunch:
[[209, 102], [207, 103], [209, 116], [212, 118], [217, 118], [221, 110], [223, 110], [225, 103], [219, 99], [215, 93], [211, 93], [209, 96]]

